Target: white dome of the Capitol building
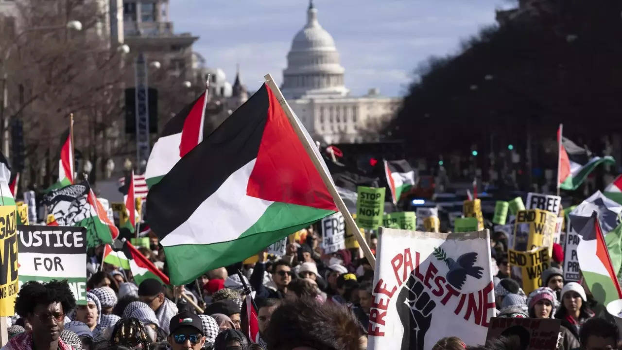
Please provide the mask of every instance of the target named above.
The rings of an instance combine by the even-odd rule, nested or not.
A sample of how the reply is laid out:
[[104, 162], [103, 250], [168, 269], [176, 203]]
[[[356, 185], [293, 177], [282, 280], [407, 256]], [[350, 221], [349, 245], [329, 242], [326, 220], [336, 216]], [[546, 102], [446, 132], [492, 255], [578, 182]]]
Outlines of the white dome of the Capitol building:
[[345, 69], [333, 37], [320, 26], [313, 3], [307, 10], [307, 24], [295, 35], [283, 70], [285, 98], [345, 96]]

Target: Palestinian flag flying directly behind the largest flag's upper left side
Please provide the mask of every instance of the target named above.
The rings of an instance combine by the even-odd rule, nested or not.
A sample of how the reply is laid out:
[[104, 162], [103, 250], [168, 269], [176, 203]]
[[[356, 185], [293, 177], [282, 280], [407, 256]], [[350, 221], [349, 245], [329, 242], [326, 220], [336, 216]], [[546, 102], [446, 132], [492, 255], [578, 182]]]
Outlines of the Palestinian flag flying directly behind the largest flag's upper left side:
[[206, 106], [207, 91], [166, 123], [147, 161], [147, 187], [159, 182], [179, 159], [203, 140]]

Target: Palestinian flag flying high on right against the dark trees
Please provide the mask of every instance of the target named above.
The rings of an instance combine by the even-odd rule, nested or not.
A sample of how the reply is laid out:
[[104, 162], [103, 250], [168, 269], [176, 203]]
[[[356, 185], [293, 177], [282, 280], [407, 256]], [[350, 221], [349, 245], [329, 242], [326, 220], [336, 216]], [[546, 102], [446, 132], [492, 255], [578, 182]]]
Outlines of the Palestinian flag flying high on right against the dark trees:
[[[560, 141], [561, 140], [561, 141]], [[596, 166], [600, 164], [615, 164], [611, 156], [595, 157], [588, 149], [577, 146], [577, 144], [562, 136], [561, 127], [557, 130], [557, 141], [559, 143], [559, 188], [574, 190], [583, 183]]]

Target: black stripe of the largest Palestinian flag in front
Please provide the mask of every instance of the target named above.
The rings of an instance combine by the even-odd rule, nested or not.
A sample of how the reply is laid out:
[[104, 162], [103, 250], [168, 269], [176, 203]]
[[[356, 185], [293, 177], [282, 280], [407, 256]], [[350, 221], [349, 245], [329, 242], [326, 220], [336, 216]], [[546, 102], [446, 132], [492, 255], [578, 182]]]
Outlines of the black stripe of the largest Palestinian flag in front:
[[160, 239], [183, 224], [234, 171], [257, 158], [268, 108], [263, 85], [151, 187], [146, 217]]

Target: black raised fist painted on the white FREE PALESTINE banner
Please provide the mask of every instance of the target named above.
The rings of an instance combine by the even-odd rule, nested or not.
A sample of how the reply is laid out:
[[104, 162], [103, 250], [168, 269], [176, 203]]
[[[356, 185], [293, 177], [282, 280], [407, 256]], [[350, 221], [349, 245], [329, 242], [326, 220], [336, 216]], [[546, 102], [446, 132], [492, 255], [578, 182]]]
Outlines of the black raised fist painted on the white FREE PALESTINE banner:
[[404, 326], [401, 350], [423, 350], [425, 333], [432, 322], [435, 301], [430, 299], [424, 285], [415, 280], [414, 271], [397, 295], [397, 315]]

